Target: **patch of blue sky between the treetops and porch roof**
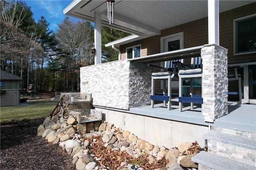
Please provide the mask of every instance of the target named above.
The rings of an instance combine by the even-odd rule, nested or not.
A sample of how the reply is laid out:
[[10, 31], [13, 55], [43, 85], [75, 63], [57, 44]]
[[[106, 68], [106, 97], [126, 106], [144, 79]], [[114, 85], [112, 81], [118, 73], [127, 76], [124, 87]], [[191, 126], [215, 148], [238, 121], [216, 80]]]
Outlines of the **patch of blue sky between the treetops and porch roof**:
[[24, 0], [24, 2], [31, 7], [36, 22], [41, 16], [44, 16], [46, 21], [50, 23], [49, 29], [55, 31], [58, 28], [57, 23], [61, 23], [66, 17], [62, 11], [72, 0]]

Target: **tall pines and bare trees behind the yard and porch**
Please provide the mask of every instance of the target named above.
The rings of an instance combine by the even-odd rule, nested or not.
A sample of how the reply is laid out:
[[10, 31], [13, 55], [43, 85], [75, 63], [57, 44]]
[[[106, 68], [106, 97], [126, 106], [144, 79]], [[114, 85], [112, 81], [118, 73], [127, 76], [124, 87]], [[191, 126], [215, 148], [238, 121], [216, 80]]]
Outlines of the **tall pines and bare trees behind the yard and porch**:
[[[80, 67], [94, 64], [94, 25], [66, 17], [55, 31], [24, 1], [1, 0], [0, 68], [22, 78], [22, 90], [78, 91]], [[128, 33], [102, 26], [102, 63], [118, 60], [105, 44]]]

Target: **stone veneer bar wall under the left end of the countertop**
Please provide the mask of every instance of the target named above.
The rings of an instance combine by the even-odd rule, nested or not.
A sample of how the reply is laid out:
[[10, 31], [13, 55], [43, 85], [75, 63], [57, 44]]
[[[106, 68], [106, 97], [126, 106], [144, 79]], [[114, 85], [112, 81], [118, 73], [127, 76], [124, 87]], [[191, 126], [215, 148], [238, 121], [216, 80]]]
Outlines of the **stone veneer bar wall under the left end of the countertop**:
[[131, 68], [127, 60], [80, 68], [80, 92], [96, 106], [126, 109], [150, 104], [150, 69]]

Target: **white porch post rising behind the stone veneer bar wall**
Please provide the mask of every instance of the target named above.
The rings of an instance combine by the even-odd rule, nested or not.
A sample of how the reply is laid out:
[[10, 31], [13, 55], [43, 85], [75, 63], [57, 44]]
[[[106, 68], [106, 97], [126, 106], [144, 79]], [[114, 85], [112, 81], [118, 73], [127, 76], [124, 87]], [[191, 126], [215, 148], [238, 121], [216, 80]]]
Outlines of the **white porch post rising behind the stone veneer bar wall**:
[[101, 63], [101, 16], [100, 13], [94, 13], [94, 48], [96, 49], [96, 54], [94, 57], [94, 64]]

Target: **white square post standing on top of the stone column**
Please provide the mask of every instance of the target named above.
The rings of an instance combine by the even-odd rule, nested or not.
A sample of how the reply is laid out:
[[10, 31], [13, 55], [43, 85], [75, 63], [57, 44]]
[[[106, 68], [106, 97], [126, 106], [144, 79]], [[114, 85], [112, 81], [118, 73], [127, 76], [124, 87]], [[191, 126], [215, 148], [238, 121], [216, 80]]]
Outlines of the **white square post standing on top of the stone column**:
[[219, 0], [208, 0], [208, 44], [220, 44]]

